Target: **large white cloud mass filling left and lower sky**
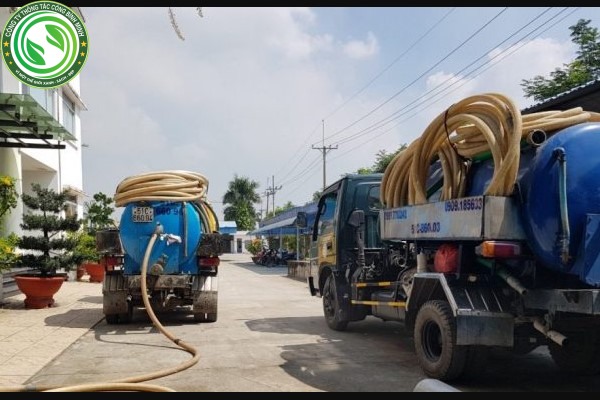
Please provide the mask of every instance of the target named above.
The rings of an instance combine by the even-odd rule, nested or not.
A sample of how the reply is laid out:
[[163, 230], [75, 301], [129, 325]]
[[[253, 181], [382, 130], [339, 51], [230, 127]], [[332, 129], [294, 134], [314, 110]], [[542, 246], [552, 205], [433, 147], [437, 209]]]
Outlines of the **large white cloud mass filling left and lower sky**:
[[[348, 30], [327, 31], [307, 8], [203, 7], [204, 18], [194, 7], [174, 11], [185, 41], [173, 31], [167, 7], [84, 9], [90, 35], [90, 58], [82, 71], [82, 97], [89, 108], [82, 113], [83, 141], [90, 144], [84, 150], [87, 193], [112, 193], [137, 173], [187, 169], [209, 179], [209, 200], [217, 213], [234, 174], [257, 181], [260, 193], [274, 175], [276, 184], [283, 184], [277, 205], [304, 204], [322, 186], [322, 155], [311, 148], [321, 144], [321, 119], [330, 136], [419, 73], [417, 61], [407, 59], [410, 67], [401, 76], [382, 77], [380, 90], [370, 87], [326, 117], [383, 65], [375, 33], [344, 44], [339, 37], [348, 37]], [[345, 45], [347, 56], [372, 57], [372, 63], [360, 63], [370, 72], [356, 69], [357, 63], [340, 57], [334, 45]], [[465, 96], [499, 91], [522, 97], [520, 78], [546, 74], [572, 54], [569, 43], [538, 39], [430, 107], [419, 106], [368, 132], [376, 121], [413, 107], [440, 82], [450, 78], [459, 82], [456, 88], [468, 78], [455, 76], [448, 66], [433, 71], [336, 137], [359, 133], [327, 154], [328, 183], [370, 166], [379, 150], [394, 151], [410, 142]], [[301, 174], [311, 162], [309, 172]]]

